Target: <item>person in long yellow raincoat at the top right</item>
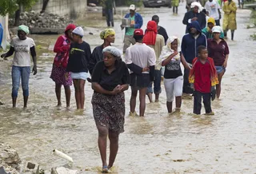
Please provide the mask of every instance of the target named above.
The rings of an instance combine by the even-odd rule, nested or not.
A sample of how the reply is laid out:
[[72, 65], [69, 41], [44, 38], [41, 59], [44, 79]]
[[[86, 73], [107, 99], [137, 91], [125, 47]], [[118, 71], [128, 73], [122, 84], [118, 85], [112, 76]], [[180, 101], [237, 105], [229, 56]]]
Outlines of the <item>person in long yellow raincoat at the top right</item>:
[[237, 14], [238, 7], [236, 6], [235, 2], [232, 0], [228, 0], [224, 3], [223, 11], [224, 11], [224, 18], [223, 18], [223, 30], [224, 36], [226, 37], [226, 32], [231, 30], [231, 40], [234, 40], [234, 30], [237, 30], [237, 21], [236, 21], [236, 14]]

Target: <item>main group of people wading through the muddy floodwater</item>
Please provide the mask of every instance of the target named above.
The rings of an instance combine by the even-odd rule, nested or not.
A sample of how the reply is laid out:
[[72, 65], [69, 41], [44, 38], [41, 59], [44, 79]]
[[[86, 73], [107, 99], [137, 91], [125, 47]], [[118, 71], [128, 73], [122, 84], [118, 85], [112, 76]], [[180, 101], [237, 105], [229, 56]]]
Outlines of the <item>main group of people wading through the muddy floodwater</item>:
[[[198, 7], [196, 9], [198, 10]], [[214, 26], [214, 18], [209, 18], [207, 26], [203, 26], [199, 24], [198, 17], [190, 17], [190, 14], [185, 16], [186, 19], [183, 21], [187, 25], [187, 32], [181, 42], [175, 36], [168, 37], [166, 30], [158, 26], [157, 15], [147, 22], [144, 32], [140, 29], [143, 24], [142, 16], [135, 12], [135, 6], [131, 5], [130, 13], [125, 16], [130, 18], [130, 27], [121, 26], [122, 29], [126, 28], [124, 61], [121, 50], [111, 45], [115, 40], [115, 31], [111, 28], [101, 32], [100, 38], [103, 43], [94, 48], [92, 53], [90, 45], [82, 40], [84, 31], [80, 26], [70, 24], [66, 27], [65, 34], [58, 37], [54, 45], [56, 56], [50, 74], [50, 78], [55, 82], [58, 106], [62, 105], [63, 85], [66, 107], [70, 107], [70, 85], [73, 81], [77, 109], [84, 109], [84, 86], [86, 81], [91, 82], [91, 88], [94, 90], [91, 103], [98, 128], [102, 172], [107, 172], [113, 166], [118, 152], [118, 136], [124, 132], [125, 122], [124, 91], [129, 89], [129, 86], [130, 116], [144, 117], [146, 95], [150, 102], [153, 102], [154, 93], [155, 102], [159, 101], [162, 76], [168, 113], [180, 112], [183, 93], [183, 96], [187, 97], [193, 94], [193, 113], [201, 114], [203, 99], [206, 114], [214, 114], [210, 103], [215, 95], [217, 98], [220, 97], [222, 76], [226, 71], [229, 55], [229, 47], [223, 39], [225, 32], [220, 26]], [[28, 27], [19, 26], [18, 38], [12, 40], [10, 50], [1, 56], [9, 57], [14, 53], [13, 107], [16, 107], [21, 78], [24, 108], [26, 108], [29, 96], [30, 54], [34, 61], [34, 75], [37, 73], [35, 44], [27, 34], [29, 34]], [[184, 74], [181, 63], [184, 66]], [[135, 112], [137, 95], [140, 101], [139, 114]], [[174, 99], [175, 109], [173, 109]], [[110, 139], [108, 163], [106, 162], [107, 136]]]

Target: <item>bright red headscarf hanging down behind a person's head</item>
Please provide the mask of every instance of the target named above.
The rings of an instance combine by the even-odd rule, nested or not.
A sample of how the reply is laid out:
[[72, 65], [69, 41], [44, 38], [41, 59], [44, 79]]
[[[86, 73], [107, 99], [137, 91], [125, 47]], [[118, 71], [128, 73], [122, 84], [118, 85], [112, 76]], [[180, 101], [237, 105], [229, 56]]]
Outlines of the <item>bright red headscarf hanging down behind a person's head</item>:
[[155, 45], [158, 34], [158, 25], [154, 21], [147, 22], [146, 33], [143, 38], [143, 43], [146, 45]]

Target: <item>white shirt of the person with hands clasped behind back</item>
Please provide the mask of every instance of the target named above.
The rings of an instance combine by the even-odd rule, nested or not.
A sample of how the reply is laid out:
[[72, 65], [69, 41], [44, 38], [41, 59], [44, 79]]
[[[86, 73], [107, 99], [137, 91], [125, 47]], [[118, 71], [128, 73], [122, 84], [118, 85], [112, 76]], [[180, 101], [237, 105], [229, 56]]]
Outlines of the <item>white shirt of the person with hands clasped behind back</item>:
[[[155, 65], [156, 56], [154, 53], [154, 49], [150, 48], [150, 46], [144, 43], [136, 43], [135, 45], [132, 45], [128, 49], [126, 49], [125, 61], [126, 64], [134, 63], [139, 67], [146, 68]], [[130, 73], [133, 72], [130, 71]]]

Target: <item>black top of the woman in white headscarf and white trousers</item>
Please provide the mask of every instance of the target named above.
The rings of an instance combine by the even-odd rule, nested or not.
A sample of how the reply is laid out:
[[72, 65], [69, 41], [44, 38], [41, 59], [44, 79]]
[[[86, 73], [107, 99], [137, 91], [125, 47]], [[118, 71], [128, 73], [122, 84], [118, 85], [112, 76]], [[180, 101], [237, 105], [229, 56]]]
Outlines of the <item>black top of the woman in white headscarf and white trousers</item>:
[[[180, 53], [181, 55], [181, 53]], [[181, 69], [181, 58], [178, 60], [171, 60], [169, 64], [166, 65], [165, 73], [163, 77], [165, 78], [177, 78], [182, 76], [182, 69]]]

